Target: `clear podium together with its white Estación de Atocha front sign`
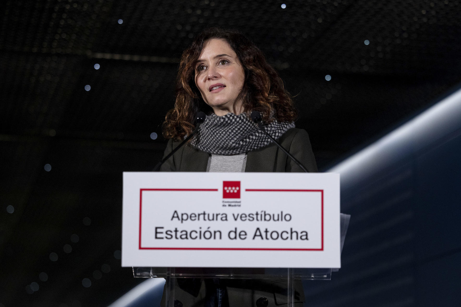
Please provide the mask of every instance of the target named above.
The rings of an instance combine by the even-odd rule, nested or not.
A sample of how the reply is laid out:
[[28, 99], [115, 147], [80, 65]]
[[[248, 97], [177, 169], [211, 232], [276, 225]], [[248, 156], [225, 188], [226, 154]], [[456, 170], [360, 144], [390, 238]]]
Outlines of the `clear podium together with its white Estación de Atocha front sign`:
[[[301, 281], [330, 280], [331, 272], [339, 268], [340, 253], [350, 217], [339, 214], [339, 175], [213, 174], [214, 177], [219, 177], [218, 180], [213, 176], [210, 178], [209, 173], [196, 175], [201, 176], [201, 180], [191, 181], [191, 178], [196, 178], [193, 173], [124, 173], [122, 266], [133, 266], [135, 278], [166, 279], [161, 306], [303, 306], [305, 298]], [[272, 177], [269, 179], [275, 178], [276, 182], [283, 180], [283, 183], [280, 184], [280, 181], [277, 184], [278, 189], [275, 189], [273, 180], [269, 180], [271, 183], [264, 180], [259, 182], [262, 177], [268, 176]], [[296, 178], [287, 181], [293, 177]], [[229, 182], [236, 183], [237, 180], [238, 190], [241, 192], [232, 192], [234, 195], [227, 199], [226, 193], [232, 189], [227, 185]], [[222, 189], [213, 189], [213, 185], [221, 181]], [[143, 191], [152, 193], [147, 196], [148, 193], [144, 195]], [[205, 191], [214, 191], [215, 195]], [[256, 208], [259, 198], [251, 198], [254, 194], [245, 196], [245, 192], [251, 194], [249, 192], [253, 191], [260, 192], [258, 197], [261, 197], [266, 210], [259, 211], [261, 208]], [[184, 195], [180, 195], [183, 192]], [[195, 192], [198, 194], [193, 194]], [[205, 211], [200, 213], [202, 215], [199, 218], [206, 219], [206, 212], [212, 211], [207, 207], [208, 204], [214, 206], [214, 211], [220, 210], [221, 214], [227, 212], [233, 217], [228, 218], [226, 214], [226, 219], [218, 221], [208, 217], [208, 220], [202, 220], [204, 224], [195, 223], [197, 217], [190, 212], [186, 216], [184, 212], [190, 208], [188, 197], [201, 195], [200, 193], [212, 196], [209, 199], [199, 197], [200, 202], [192, 203], [194, 209], [205, 206]], [[165, 206], [165, 200], [170, 197], [179, 199], [173, 199], [172, 204]], [[219, 198], [219, 206], [213, 197]], [[283, 203], [285, 200], [287, 203]], [[275, 213], [272, 213], [276, 212], [275, 209], [270, 209], [271, 201], [275, 202], [274, 206], [285, 210], [285, 213], [282, 211], [282, 214], [278, 214], [278, 220]], [[152, 208], [146, 209], [149, 206], [166, 213], [162, 215]], [[300, 209], [305, 206], [311, 206], [311, 211]], [[203, 208], [195, 211], [201, 212]], [[268, 220], [269, 211], [272, 214], [271, 220]], [[264, 212], [266, 216], [259, 214], [260, 220], [245, 223], [250, 215], [243, 212]], [[236, 218], [237, 213], [245, 214], [243, 221], [242, 218]], [[284, 214], [285, 220], [280, 220], [280, 216]], [[315, 217], [306, 218], [307, 215]], [[296, 220], [306, 220], [308, 225], [300, 226], [296, 224]], [[277, 223], [285, 225], [277, 228]], [[146, 224], [153, 225], [144, 228], [142, 225]], [[194, 227], [187, 228], [185, 225]], [[209, 240], [213, 237], [199, 242], [198, 234], [194, 233], [195, 237], [192, 237], [194, 231], [199, 232], [199, 225], [200, 229], [210, 229], [210, 234], [213, 233], [211, 229], [219, 228], [215, 233], [227, 233], [228, 237], [218, 236], [211, 244]], [[260, 225], [264, 225], [265, 230]], [[256, 231], [253, 231], [255, 226]], [[303, 235], [301, 229], [306, 229], [304, 241], [300, 241]], [[182, 239], [179, 236], [181, 231], [184, 235]], [[168, 237], [169, 233], [171, 238]], [[200, 230], [200, 236], [202, 234], [206, 238], [205, 232]], [[148, 238], [144, 239], [145, 237]], [[253, 241], [250, 241], [251, 237]], [[217, 257], [220, 259], [216, 259]], [[159, 265], [155, 266], [156, 264]], [[333, 268], [324, 268], [324, 264], [331, 264]], [[297, 267], [289, 268], [286, 265]]]

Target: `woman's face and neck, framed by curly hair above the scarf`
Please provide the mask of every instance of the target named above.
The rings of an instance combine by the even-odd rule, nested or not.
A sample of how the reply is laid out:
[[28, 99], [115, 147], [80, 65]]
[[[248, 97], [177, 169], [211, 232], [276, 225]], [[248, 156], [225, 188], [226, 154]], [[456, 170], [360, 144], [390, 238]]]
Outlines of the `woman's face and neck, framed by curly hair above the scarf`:
[[229, 43], [221, 39], [206, 41], [195, 64], [195, 85], [216, 115], [243, 112], [237, 97], [244, 80], [243, 67]]

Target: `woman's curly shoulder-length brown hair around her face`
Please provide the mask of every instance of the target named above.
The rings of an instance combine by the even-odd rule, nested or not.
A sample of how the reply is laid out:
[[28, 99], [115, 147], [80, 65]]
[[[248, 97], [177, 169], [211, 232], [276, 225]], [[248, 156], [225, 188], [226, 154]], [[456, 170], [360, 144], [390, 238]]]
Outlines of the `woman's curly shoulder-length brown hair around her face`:
[[194, 116], [199, 111], [213, 112], [195, 85], [195, 61], [206, 41], [225, 40], [237, 55], [245, 73], [242, 92], [243, 110], [259, 111], [265, 122], [291, 122], [296, 119], [296, 109], [290, 93], [284, 88], [277, 71], [267, 64], [266, 57], [254, 43], [236, 30], [207, 28], [197, 35], [183, 52], [176, 81], [176, 102], [163, 123], [165, 139], [181, 140], [194, 130]]

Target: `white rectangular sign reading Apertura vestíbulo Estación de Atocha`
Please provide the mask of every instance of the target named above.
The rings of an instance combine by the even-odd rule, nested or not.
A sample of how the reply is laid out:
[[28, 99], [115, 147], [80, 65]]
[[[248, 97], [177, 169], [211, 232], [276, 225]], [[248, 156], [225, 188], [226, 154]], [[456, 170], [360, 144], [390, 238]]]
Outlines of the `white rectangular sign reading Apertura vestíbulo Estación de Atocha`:
[[341, 266], [339, 174], [123, 174], [122, 266]]

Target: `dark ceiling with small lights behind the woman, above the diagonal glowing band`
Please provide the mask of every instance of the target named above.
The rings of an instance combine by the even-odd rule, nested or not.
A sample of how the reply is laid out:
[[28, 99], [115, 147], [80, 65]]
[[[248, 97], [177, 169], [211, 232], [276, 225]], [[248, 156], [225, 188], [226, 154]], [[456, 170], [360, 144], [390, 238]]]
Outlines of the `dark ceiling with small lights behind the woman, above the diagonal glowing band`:
[[266, 53], [320, 170], [461, 81], [459, 0], [1, 8], [0, 307], [106, 306], [141, 281], [120, 267], [122, 172], [161, 157], [178, 58], [205, 27], [239, 29]]

